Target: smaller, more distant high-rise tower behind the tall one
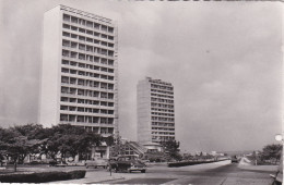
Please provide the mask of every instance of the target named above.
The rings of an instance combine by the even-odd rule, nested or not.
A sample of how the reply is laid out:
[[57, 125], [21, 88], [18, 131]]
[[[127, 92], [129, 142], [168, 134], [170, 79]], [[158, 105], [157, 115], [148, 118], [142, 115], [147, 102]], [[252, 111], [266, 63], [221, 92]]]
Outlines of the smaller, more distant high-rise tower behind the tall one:
[[138, 83], [138, 141], [159, 143], [175, 139], [174, 86], [146, 77]]

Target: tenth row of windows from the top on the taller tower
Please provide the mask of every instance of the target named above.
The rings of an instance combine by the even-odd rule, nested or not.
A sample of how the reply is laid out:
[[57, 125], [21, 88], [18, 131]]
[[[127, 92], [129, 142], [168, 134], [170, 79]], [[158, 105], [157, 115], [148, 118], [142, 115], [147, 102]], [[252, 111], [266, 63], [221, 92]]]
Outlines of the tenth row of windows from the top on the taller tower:
[[111, 108], [114, 107], [114, 102], [97, 101], [97, 100], [81, 99], [81, 98], [61, 97], [60, 101], [72, 102], [72, 103], [81, 103], [81, 104], [90, 104], [90, 106], [105, 106], [105, 107], [111, 107]]

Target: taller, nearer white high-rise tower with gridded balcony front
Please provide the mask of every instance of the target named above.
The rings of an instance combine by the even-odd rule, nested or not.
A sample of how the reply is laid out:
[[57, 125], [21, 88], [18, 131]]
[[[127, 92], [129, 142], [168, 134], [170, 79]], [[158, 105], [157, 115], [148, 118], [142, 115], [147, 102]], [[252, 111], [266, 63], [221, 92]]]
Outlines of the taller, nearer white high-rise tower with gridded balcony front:
[[117, 27], [58, 5], [44, 15], [39, 123], [118, 134]]

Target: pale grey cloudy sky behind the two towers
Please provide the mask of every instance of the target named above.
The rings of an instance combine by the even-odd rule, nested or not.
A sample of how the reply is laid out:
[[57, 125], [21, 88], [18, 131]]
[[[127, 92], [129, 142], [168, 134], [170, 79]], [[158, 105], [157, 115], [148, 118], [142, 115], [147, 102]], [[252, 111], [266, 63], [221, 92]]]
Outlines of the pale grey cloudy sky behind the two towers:
[[0, 126], [37, 123], [44, 12], [64, 4], [118, 23], [119, 131], [137, 140], [137, 84], [175, 87], [186, 151], [261, 149], [282, 124], [280, 2], [0, 0]]

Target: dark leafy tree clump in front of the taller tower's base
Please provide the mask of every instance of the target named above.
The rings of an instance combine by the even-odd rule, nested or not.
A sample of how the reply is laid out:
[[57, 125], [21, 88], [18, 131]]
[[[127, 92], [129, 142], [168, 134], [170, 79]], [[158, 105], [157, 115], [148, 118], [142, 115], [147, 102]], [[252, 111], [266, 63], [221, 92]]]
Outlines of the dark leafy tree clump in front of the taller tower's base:
[[[83, 127], [70, 124], [59, 124], [44, 128], [39, 124], [19, 125], [9, 128], [0, 127], [0, 157], [10, 157], [14, 163], [22, 163], [27, 155], [45, 153], [56, 159], [57, 155], [73, 158], [76, 155], [86, 156], [93, 146], [99, 146], [100, 135], [86, 132]], [[108, 138], [111, 143], [111, 138]]]

